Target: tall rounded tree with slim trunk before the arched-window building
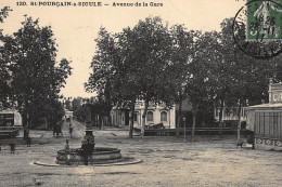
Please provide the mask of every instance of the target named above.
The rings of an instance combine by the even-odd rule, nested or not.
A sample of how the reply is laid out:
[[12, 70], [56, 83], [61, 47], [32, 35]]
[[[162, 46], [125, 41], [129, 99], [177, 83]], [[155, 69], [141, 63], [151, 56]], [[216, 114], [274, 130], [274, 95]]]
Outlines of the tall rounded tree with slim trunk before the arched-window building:
[[141, 137], [144, 136], [149, 103], [165, 102], [171, 104], [167, 68], [170, 66], [172, 40], [169, 30], [161, 17], [146, 17], [131, 30], [128, 53], [138, 80], [139, 98], [144, 101]]

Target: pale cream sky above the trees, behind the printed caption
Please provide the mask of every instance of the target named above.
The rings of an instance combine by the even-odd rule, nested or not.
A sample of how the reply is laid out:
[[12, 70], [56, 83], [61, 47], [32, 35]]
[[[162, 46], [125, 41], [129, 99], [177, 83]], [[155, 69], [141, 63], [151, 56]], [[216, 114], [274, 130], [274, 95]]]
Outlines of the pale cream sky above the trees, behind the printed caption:
[[[227, 17], [235, 16], [245, 3], [244, 0], [33, 0], [33, 2], [101, 2], [102, 6], [52, 6], [17, 4], [17, 0], [0, 0], [0, 9], [11, 6], [9, 17], [0, 24], [3, 32], [11, 35], [21, 28], [24, 15], [39, 18], [40, 26], [51, 26], [57, 43], [57, 61], [65, 57], [72, 61], [73, 75], [66, 80], [61, 93], [66, 97], [90, 97], [84, 83], [91, 72], [90, 63], [95, 53], [94, 39], [101, 26], [110, 32], [121, 31], [133, 27], [139, 19], [148, 16], [161, 16], [169, 25], [184, 24], [194, 30], [220, 30], [220, 23]], [[23, 1], [22, 1], [23, 2]], [[133, 6], [113, 6], [113, 3], [133, 3]], [[148, 3], [148, 6], [134, 6], [136, 2]], [[151, 6], [150, 2], [163, 6]], [[110, 4], [110, 5], [104, 5]]]

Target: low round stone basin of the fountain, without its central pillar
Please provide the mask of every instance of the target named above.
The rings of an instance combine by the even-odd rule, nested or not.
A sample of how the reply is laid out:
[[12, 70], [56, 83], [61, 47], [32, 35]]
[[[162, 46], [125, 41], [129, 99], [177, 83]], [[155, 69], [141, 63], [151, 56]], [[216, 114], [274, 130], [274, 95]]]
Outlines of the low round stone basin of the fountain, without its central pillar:
[[[67, 156], [72, 159], [72, 162], [76, 164], [84, 164], [85, 158], [81, 155], [81, 149], [70, 149], [70, 150], [59, 150], [56, 155], [56, 163], [66, 164]], [[104, 163], [114, 163], [121, 161], [121, 153], [119, 149], [116, 148], [106, 148], [106, 147], [95, 147], [91, 157], [88, 157], [89, 162], [93, 164], [104, 164]]]

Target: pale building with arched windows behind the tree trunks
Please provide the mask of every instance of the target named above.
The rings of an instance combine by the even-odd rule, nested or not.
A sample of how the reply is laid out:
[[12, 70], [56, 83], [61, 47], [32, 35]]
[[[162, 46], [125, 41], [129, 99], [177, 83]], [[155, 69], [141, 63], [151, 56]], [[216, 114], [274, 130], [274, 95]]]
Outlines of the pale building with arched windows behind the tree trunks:
[[[133, 128], [141, 129], [142, 115], [144, 113], [144, 102], [138, 101], [134, 107]], [[111, 111], [112, 124], [116, 126], [129, 126], [131, 123], [131, 112], [127, 109], [114, 107]], [[165, 104], [150, 104], [145, 119], [146, 125], [163, 123], [165, 129], [176, 129], [175, 107], [168, 108]]]

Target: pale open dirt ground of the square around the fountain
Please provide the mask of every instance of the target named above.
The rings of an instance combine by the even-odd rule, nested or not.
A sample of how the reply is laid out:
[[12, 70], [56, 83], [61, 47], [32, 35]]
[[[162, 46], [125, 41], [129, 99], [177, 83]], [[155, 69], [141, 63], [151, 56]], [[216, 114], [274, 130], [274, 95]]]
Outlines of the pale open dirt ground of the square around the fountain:
[[[80, 147], [84, 125], [74, 122], [70, 148]], [[196, 142], [179, 137], [128, 138], [128, 131], [95, 130], [97, 147], [114, 147], [125, 157], [142, 163], [112, 166], [42, 166], [34, 161], [55, 163], [56, 151], [69, 138], [52, 132], [31, 131], [31, 147], [18, 137], [15, 155], [2, 142], [0, 186], [236, 186], [280, 187], [282, 152], [238, 148], [235, 137], [222, 139], [197, 136]]]

